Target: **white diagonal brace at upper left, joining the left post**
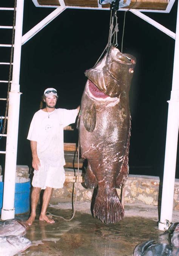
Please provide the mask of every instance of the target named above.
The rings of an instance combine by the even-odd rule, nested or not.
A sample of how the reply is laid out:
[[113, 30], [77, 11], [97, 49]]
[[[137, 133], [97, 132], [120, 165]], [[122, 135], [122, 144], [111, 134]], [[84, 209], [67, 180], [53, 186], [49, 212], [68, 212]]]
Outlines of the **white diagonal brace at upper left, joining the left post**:
[[65, 11], [66, 6], [62, 7], [59, 6], [57, 9], [52, 11], [48, 16], [45, 17], [42, 21], [40, 21], [35, 27], [33, 27], [31, 30], [29, 30], [25, 35], [22, 37], [22, 45], [25, 44], [29, 39], [31, 39], [34, 35], [36, 35], [42, 28], [44, 28], [46, 25], [48, 25], [53, 19], [55, 19], [57, 16], [59, 16], [60, 13]]

